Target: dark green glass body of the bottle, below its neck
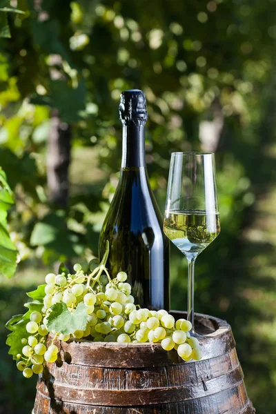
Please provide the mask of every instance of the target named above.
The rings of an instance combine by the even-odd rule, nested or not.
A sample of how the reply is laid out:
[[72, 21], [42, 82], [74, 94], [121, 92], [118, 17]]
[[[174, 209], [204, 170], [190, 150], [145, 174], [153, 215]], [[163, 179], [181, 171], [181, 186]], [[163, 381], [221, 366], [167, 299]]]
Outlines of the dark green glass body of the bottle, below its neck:
[[124, 270], [135, 303], [151, 309], [170, 308], [169, 241], [148, 183], [145, 167], [121, 168], [121, 177], [100, 236], [100, 255], [106, 240], [106, 264], [115, 277]]

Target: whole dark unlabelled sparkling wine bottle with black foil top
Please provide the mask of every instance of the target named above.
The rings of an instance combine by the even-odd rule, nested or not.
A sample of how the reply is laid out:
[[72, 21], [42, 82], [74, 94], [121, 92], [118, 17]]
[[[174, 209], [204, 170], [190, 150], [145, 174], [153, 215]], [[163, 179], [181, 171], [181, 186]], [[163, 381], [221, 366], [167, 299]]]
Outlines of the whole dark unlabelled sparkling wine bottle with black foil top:
[[117, 190], [101, 229], [99, 253], [106, 241], [106, 267], [111, 277], [128, 274], [135, 303], [151, 309], [170, 307], [169, 241], [150, 188], [145, 161], [146, 96], [126, 90], [119, 105], [123, 124], [123, 156]]

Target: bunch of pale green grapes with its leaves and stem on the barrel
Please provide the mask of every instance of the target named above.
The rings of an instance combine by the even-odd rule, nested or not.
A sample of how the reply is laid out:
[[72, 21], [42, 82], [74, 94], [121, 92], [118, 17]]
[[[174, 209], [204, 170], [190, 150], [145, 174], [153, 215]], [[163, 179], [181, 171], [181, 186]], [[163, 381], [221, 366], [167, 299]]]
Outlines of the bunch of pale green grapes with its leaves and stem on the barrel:
[[[94, 342], [161, 344], [165, 351], [175, 349], [184, 361], [202, 357], [197, 338], [190, 336], [192, 325], [167, 311], [149, 311], [135, 305], [125, 272], [114, 279], [106, 269], [108, 248], [101, 262], [90, 262], [90, 272], [84, 273], [75, 264], [69, 273], [46, 275], [46, 284], [28, 293], [32, 299], [25, 306], [25, 315], [16, 315], [6, 324], [9, 353], [26, 378], [43, 372], [43, 366], [55, 362], [59, 349], [53, 342], [82, 338]], [[52, 333], [52, 342], [48, 334]]]

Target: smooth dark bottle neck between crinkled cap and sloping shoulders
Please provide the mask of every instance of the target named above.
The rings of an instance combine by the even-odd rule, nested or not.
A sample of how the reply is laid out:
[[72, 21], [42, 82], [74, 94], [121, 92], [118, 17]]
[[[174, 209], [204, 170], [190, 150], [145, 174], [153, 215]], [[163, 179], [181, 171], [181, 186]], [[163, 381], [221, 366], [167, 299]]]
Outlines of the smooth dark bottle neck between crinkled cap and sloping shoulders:
[[145, 167], [144, 126], [123, 126], [123, 155], [121, 168]]

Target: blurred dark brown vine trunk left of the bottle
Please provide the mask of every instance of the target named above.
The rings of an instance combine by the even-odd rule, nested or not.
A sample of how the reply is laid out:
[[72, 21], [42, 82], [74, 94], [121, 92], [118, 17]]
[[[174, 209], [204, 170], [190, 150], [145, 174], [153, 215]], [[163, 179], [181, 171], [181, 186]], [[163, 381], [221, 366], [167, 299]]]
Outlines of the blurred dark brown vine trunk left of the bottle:
[[70, 125], [61, 121], [58, 110], [52, 110], [47, 152], [48, 196], [59, 208], [68, 207], [71, 137]]

